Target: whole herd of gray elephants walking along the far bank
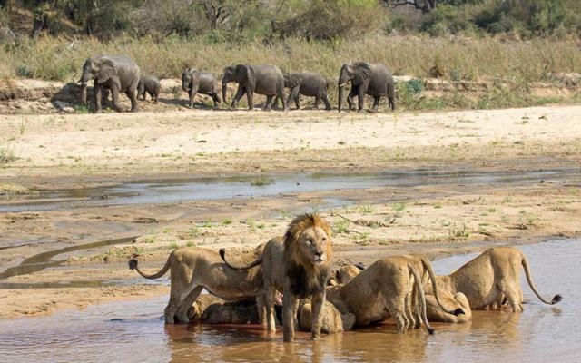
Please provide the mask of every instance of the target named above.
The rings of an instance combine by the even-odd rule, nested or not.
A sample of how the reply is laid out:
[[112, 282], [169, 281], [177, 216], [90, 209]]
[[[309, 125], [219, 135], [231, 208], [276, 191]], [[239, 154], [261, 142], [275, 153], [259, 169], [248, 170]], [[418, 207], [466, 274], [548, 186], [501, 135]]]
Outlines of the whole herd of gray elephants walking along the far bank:
[[[119, 93], [125, 93], [131, 101], [131, 111], [137, 112], [137, 99], [150, 94], [154, 103], [157, 103], [161, 90], [159, 79], [154, 76], [143, 76], [139, 66], [127, 56], [99, 55], [89, 58], [83, 65], [81, 75], [81, 102], [87, 103], [87, 84], [94, 80], [94, 110], [102, 112], [102, 99], [107, 93], [112, 94], [113, 110], [120, 112]], [[231, 101], [235, 108], [241, 98], [246, 95], [249, 110], [254, 107], [254, 93], [266, 96], [262, 109], [270, 111], [272, 106], [282, 103], [284, 111], [288, 111], [289, 103], [294, 103], [300, 109], [300, 95], [314, 97], [315, 108], [319, 108], [322, 101], [325, 109], [330, 110], [328, 92], [334, 81], [314, 72], [283, 74], [275, 65], [236, 64], [224, 68], [222, 74], [222, 100], [226, 101], [228, 83], [238, 83], [238, 90]], [[384, 64], [369, 64], [366, 62], [352, 62], [343, 64], [340, 69], [339, 103], [341, 111], [343, 90], [351, 83], [347, 103], [350, 110], [355, 109], [353, 98], [358, 98], [358, 110], [363, 111], [365, 95], [373, 97], [373, 112], [378, 111], [379, 99], [387, 97], [389, 107], [395, 110], [395, 89], [393, 76]], [[289, 89], [288, 97], [285, 89]], [[210, 72], [203, 72], [197, 68], [187, 67], [182, 73], [182, 90], [188, 93], [189, 106], [193, 107], [193, 97], [196, 93], [212, 97], [214, 108], [222, 102], [220, 86], [217, 77]]]

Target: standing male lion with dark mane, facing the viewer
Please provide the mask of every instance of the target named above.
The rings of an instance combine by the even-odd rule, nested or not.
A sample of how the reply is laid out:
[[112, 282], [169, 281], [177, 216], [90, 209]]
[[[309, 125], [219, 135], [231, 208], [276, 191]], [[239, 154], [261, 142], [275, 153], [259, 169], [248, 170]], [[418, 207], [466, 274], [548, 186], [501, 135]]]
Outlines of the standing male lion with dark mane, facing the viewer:
[[[223, 249], [220, 254], [222, 260], [228, 263]], [[303, 214], [291, 221], [283, 238], [274, 238], [266, 244], [261, 258], [248, 266], [229, 266], [233, 270], [246, 270], [262, 264], [262, 297], [268, 329], [275, 331], [274, 295], [276, 290], [282, 290], [283, 335], [285, 341], [291, 341], [299, 299], [310, 296], [313, 298], [312, 315], [315, 317], [312, 319], [311, 335], [313, 338], [320, 335], [320, 312], [330, 277], [331, 257], [329, 224], [317, 214]]]

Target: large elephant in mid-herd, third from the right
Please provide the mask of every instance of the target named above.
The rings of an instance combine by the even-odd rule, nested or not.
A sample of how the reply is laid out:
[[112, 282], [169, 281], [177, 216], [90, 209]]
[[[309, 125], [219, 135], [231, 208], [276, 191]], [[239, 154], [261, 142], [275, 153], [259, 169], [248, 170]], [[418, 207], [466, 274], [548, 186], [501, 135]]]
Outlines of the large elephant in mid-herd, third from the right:
[[222, 77], [222, 98], [226, 102], [226, 86], [228, 83], [238, 83], [238, 91], [232, 100], [231, 107], [236, 107], [244, 93], [248, 100], [248, 108], [254, 107], [254, 93], [266, 95], [263, 110], [271, 110], [272, 98], [278, 96], [282, 100], [284, 111], [288, 110], [284, 97], [284, 78], [281, 70], [274, 65], [237, 64], [224, 68]]

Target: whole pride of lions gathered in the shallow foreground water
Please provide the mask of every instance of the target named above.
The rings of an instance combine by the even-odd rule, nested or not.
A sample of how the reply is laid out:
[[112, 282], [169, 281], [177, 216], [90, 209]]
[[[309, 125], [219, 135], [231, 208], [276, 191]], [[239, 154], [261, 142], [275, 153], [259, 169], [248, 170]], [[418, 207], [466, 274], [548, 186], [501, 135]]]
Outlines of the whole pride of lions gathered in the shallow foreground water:
[[[183, 247], [153, 275], [140, 270], [137, 260], [129, 267], [146, 279], [171, 270], [167, 324], [260, 322], [275, 332], [281, 294], [284, 341], [293, 340], [295, 329], [319, 338], [321, 331], [336, 333], [390, 317], [399, 333], [423, 325], [433, 334], [429, 321], [463, 323], [472, 318], [472, 309], [522, 311], [521, 267], [538, 299], [549, 305], [561, 300], [539, 294], [527, 258], [511, 247], [486, 250], [447, 276], [436, 276], [426, 258], [412, 255], [333, 271], [330, 226], [318, 214], [296, 217], [284, 236], [235, 257], [233, 263], [224, 249]], [[201, 295], [202, 289], [211, 295]]]

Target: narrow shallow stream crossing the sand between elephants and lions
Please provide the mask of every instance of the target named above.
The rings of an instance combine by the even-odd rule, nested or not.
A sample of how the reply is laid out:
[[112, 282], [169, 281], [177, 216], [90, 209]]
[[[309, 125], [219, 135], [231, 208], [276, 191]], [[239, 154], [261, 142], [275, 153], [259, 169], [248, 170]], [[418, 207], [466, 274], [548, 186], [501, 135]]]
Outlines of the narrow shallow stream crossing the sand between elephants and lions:
[[[416, 170], [379, 173], [310, 173], [257, 177], [195, 178], [189, 181], [165, 180], [123, 182], [84, 189], [40, 190], [34, 194], [5, 196], [0, 212], [53, 211], [64, 208], [106, 207], [112, 205], [164, 204], [183, 201], [213, 201], [256, 198], [284, 193], [368, 189], [374, 187], [413, 187], [419, 185], [514, 184], [550, 182], [579, 178], [579, 169], [533, 171]], [[347, 201], [330, 200], [332, 206]]]

